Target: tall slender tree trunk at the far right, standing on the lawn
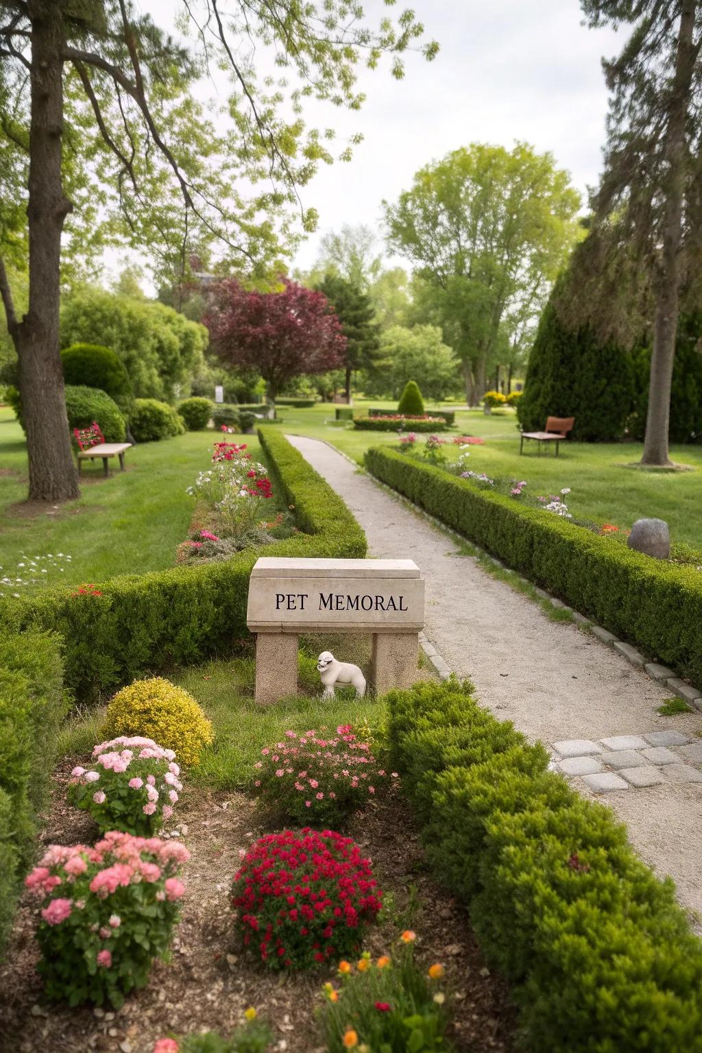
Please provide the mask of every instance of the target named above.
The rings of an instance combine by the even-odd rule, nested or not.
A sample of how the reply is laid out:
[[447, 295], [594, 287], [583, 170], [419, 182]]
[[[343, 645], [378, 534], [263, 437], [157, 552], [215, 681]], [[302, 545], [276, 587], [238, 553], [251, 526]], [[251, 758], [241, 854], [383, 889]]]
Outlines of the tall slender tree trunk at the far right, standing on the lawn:
[[670, 385], [678, 331], [680, 299], [680, 249], [685, 193], [685, 125], [690, 99], [695, 48], [693, 32], [697, 0], [683, 0], [678, 35], [678, 53], [668, 117], [666, 152], [668, 176], [663, 223], [663, 247], [658, 275], [654, 351], [650, 358], [648, 414], [642, 464], [665, 466], [668, 455]]

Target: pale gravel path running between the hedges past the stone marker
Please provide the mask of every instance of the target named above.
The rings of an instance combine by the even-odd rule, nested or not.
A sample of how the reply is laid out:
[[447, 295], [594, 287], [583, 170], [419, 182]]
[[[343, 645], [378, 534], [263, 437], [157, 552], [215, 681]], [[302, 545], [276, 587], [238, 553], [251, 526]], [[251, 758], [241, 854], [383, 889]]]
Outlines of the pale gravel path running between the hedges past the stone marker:
[[[669, 689], [571, 622], [550, 621], [333, 448], [287, 437], [344, 499], [366, 533], [369, 555], [415, 560], [426, 582], [426, 636], [459, 677], [475, 681], [497, 716], [549, 746], [662, 730], [697, 741], [702, 714], [656, 712]], [[593, 796], [581, 778], [573, 783]], [[702, 782], [627, 786], [599, 799], [627, 823], [646, 862], [675, 879], [680, 901], [702, 914]]]

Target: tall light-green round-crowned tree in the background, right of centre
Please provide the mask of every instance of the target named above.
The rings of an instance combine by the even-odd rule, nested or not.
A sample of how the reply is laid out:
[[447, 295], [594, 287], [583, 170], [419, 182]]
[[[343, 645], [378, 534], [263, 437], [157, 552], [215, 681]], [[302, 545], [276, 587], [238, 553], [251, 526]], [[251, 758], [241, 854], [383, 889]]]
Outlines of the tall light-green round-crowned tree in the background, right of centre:
[[423, 287], [429, 320], [463, 363], [469, 405], [501, 341], [542, 309], [579, 206], [568, 174], [525, 143], [454, 151], [385, 204], [388, 247], [415, 264], [416, 293]]

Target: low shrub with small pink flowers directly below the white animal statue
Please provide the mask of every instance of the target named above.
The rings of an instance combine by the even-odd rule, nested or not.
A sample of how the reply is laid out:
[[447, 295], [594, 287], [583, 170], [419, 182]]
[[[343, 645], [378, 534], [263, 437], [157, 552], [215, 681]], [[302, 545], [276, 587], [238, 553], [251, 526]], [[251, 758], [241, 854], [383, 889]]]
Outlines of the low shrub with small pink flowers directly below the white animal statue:
[[338, 826], [398, 777], [350, 724], [328, 736], [324, 731], [286, 731], [285, 741], [265, 747], [254, 764], [254, 793], [292, 822]]

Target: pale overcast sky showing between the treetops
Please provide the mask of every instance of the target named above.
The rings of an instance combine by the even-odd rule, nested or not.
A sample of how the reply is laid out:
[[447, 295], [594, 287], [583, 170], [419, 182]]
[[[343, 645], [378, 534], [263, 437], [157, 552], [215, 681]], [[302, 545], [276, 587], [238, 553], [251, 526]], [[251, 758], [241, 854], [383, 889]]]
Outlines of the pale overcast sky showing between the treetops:
[[[173, 0], [139, 0], [163, 27], [173, 25]], [[309, 267], [319, 238], [343, 223], [380, 232], [381, 201], [393, 201], [414, 173], [470, 142], [512, 147], [524, 140], [550, 151], [585, 197], [597, 182], [604, 142], [607, 95], [600, 59], [617, 51], [614, 33], [582, 24], [578, 0], [414, 0], [387, 8], [366, 0], [377, 24], [412, 6], [426, 36], [439, 41], [434, 62], [407, 55], [404, 80], [388, 63], [362, 71], [366, 102], [360, 113], [315, 104], [309, 123], [332, 124], [337, 142], [364, 135], [350, 163], [323, 166], [303, 188], [305, 205], [319, 212], [318, 234], [295, 265]]]

